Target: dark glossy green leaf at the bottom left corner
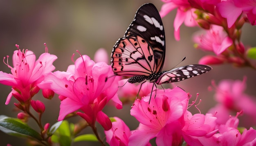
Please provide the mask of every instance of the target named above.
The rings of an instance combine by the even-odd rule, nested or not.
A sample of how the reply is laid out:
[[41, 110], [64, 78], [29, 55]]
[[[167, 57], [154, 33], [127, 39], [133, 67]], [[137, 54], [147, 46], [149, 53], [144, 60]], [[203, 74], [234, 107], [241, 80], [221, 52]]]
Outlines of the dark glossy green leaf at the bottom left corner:
[[10, 135], [22, 136], [23, 134], [42, 140], [38, 132], [27, 126], [27, 124], [24, 124], [20, 119], [5, 115], [0, 115], [0, 130]]

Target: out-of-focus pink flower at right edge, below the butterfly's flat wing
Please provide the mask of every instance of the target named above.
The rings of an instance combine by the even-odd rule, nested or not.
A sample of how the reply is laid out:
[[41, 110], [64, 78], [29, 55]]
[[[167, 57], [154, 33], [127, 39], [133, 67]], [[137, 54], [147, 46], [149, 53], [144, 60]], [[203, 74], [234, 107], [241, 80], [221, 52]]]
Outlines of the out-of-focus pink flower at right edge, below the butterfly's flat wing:
[[243, 115], [247, 115], [255, 124], [256, 122], [256, 101], [244, 93], [246, 88], [246, 77], [243, 81], [240, 80], [222, 80], [218, 86], [213, 82], [216, 88], [216, 101], [219, 103], [209, 110], [209, 113], [215, 113], [217, 117], [217, 124], [224, 124], [227, 121], [231, 112], [243, 111]]

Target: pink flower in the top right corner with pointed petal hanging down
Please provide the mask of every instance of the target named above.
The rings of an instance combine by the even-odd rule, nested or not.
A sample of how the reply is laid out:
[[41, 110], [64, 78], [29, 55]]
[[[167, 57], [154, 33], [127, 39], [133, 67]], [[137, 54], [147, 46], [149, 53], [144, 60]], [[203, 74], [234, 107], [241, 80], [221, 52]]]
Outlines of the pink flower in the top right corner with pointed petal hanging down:
[[252, 25], [255, 25], [256, 20], [256, 0], [228, 0], [222, 1], [216, 5], [216, 8], [222, 15], [227, 18], [228, 27], [236, 22], [238, 17], [244, 12]]

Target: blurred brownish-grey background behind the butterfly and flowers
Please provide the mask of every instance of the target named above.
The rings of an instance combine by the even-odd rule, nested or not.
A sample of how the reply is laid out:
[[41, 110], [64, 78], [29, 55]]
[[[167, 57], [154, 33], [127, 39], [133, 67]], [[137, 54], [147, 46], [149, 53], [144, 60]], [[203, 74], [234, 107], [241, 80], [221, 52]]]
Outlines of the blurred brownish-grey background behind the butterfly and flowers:
[[[155, 4], [158, 10], [163, 2], [160, 0], [84, 0], [84, 1], [47, 1], [47, 0], [1, 0], [0, 1], [0, 58], [6, 55], [10, 57], [16, 50], [15, 44], [19, 44], [20, 49], [34, 51], [37, 58], [45, 52], [46, 43], [49, 53], [54, 54], [58, 59], [54, 62], [56, 70], [66, 71], [67, 66], [73, 64], [71, 56], [75, 53], [75, 58], [79, 57], [76, 50], [81, 54], [89, 55], [92, 59], [94, 53], [99, 48], [105, 48], [110, 56], [115, 42], [124, 35], [124, 32], [132, 22], [135, 12], [144, 3]], [[192, 35], [200, 30], [197, 27], [185, 27], [182, 25], [179, 42], [173, 37], [173, 20], [176, 11], [169, 13], [162, 19], [166, 33], [166, 59], [164, 69], [169, 70], [179, 63], [184, 56], [186, 60], [179, 66], [187, 64], [197, 64], [198, 60], [209, 52], [203, 52], [193, 48]], [[256, 29], [249, 24], [245, 24], [242, 33], [242, 42], [246, 46], [256, 46]], [[9, 58], [9, 64], [11, 63]], [[256, 97], [256, 71], [250, 68], [235, 68], [230, 64], [212, 66], [213, 70], [207, 74], [200, 75], [182, 82], [175, 83], [195, 99], [196, 93], [200, 93], [202, 99], [198, 106], [205, 114], [216, 102], [213, 99], [214, 92], [208, 91], [211, 80], [216, 83], [222, 79], [243, 80], [247, 76], [247, 88], [245, 93]], [[0, 71], [10, 73], [10, 69], [0, 62]], [[170, 85], [164, 85], [166, 88]], [[17, 111], [13, 111], [15, 98], [9, 105], [5, 105], [5, 100], [10, 86], [0, 84], [0, 115], [16, 117]], [[51, 125], [57, 122], [59, 104], [58, 96], [52, 100], [45, 100], [38, 94], [33, 97], [45, 103], [46, 111], [43, 115], [43, 123], [49, 122]], [[104, 112], [109, 116], [117, 116], [123, 119], [130, 127], [130, 130], [137, 128], [136, 119], [130, 116], [130, 106], [124, 105], [121, 110], [114, 107], [106, 107]], [[198, 113], [196, 109], [190, 108], [192, 113]], [[75, 122], [79, 117], [70, 121]], [[248, 120], [248, 119], [247, 119]], [[29, 124], [34, 125], [32, 120]], [[100, 127], [100, 126], [99, 126]], [[35, 129], [38, 129], [34, 125]], [[100, 129], [100, 128], [99, 128]], [[100, 129], [102, 131], [102, 129]], [[87, 128], [83, 133], [92, 133]], [[25, 139], [6, 135], [0, 131], [0, 145], [25, 146]], [[79, 142], [75, 145], [97, 145], [92, 142]], [[98, 144], [100, 145], [100, 144]]]

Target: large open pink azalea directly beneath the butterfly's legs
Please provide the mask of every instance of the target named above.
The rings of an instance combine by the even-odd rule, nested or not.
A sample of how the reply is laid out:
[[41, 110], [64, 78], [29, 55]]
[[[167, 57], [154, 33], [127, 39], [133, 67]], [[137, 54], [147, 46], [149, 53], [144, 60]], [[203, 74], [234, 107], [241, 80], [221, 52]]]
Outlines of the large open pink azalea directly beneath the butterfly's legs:
[[149, 99], [150, 96], [146, 96], [136, 100], [130, 110], [140, 124], [137, 130], [132, 131], [129, 145], [146, 145], [153, 137], [157, 137], [157, 145], [182, 144], [182, 127], [178, 120], [186, 111], [187, 93], [176, 87], [165, 92], [158, 90], [150, 104]]

